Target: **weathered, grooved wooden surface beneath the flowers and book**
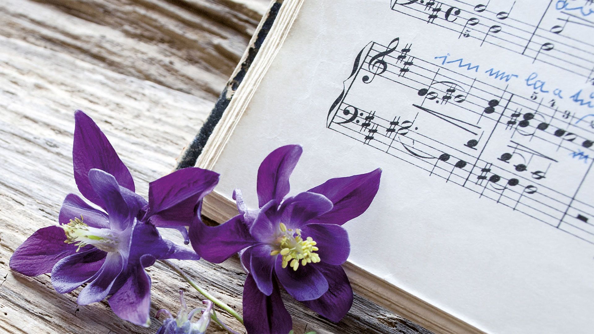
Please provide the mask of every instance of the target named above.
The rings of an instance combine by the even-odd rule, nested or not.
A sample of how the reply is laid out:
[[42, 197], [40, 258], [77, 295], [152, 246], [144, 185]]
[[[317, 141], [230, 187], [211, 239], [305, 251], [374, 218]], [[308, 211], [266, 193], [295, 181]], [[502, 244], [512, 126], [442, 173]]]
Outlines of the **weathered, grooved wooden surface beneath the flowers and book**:
[[[189, 306], [199, 303], [197, 292], [156, 264], [146, 329], [118, 319], [105, 301], [76, 305], [80, 289], [57, 294], [49, 275], [11, 272], [8, 259], [36, 229], [55, 224], [64, 196], [77, 193], [75, 109], [105, 131], [146, 196], [148, 182], [173, 169], [206, 119], [266, 7], [257, 0], [0, 1], [0, 332], [151, 333], [159, 308], [178, 310], [179, 287]], [[245, 274], [236, 258], [179, 264], [241, 310]], [[296, 332], [425, 332], [359, 297], [339, 324], [285, 300]]]

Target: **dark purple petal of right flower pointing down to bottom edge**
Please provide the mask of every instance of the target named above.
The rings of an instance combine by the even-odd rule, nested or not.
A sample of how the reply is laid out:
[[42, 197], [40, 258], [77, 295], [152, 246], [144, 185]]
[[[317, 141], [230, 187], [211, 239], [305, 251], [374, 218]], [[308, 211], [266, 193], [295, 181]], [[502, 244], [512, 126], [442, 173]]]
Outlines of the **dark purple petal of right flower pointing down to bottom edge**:
[[279, 286], [273, 281], [270, 296], [260, 292], [252, 275], [244, 283], [244, 325], [248, 333], [289, 333], [293, 320], [282, 298]]

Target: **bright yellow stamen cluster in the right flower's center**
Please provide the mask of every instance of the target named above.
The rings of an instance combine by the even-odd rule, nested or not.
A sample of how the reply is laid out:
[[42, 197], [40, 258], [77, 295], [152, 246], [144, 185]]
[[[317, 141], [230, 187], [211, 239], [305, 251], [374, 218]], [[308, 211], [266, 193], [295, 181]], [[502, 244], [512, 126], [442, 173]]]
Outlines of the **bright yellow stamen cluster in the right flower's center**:
[[[301, 230], [287, 229], [284, 223], [279, 224], [280, 232], [283, 233], [279, 238], [276, 239], [279, 250], [273, 250], [270, 252], [271, 256], [280, 254], [283, 257], [283, 268], [287, 265], [297, 270], [299, 263], [302, 266], [308, 263], [320, 262], [320, 256], [314, 251], [318, 250], [315, 247], [315, 242], [311, 237], [307, 237], [305, 240], [301, 238]], [[290, 261], [290, 264], [289, 264]]]

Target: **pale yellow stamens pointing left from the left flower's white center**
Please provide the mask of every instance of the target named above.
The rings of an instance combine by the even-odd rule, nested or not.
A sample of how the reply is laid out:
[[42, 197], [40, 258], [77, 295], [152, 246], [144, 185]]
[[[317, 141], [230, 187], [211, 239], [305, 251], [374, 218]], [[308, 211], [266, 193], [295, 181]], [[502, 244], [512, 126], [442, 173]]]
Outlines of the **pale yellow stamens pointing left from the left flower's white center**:
[[83, 222], [83, 216], [80, 219], [70, 219], [70, 222], [62, 225], [64, 233], [66, 234], [67, 244], [74, 244], [78, 246], [77, 252], [80, 248], [86, 245], [94, 245], [100, 250], [114, 251], [116, 249], [117, 238], [109, 229], [92, 228]]

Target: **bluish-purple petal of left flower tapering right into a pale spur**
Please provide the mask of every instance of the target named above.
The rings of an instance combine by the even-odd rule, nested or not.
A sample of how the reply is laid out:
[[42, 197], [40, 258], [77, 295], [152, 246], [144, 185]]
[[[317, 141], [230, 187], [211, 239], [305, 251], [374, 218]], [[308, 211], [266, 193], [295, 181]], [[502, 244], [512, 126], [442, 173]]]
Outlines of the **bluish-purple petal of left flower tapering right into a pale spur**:
[[132, 234], [128, 262], [136, 264], [147, 254], [154, 259], [200, 260], [200, 256], [192, 248], [161, 238], [150, 223], [137, 223]]

